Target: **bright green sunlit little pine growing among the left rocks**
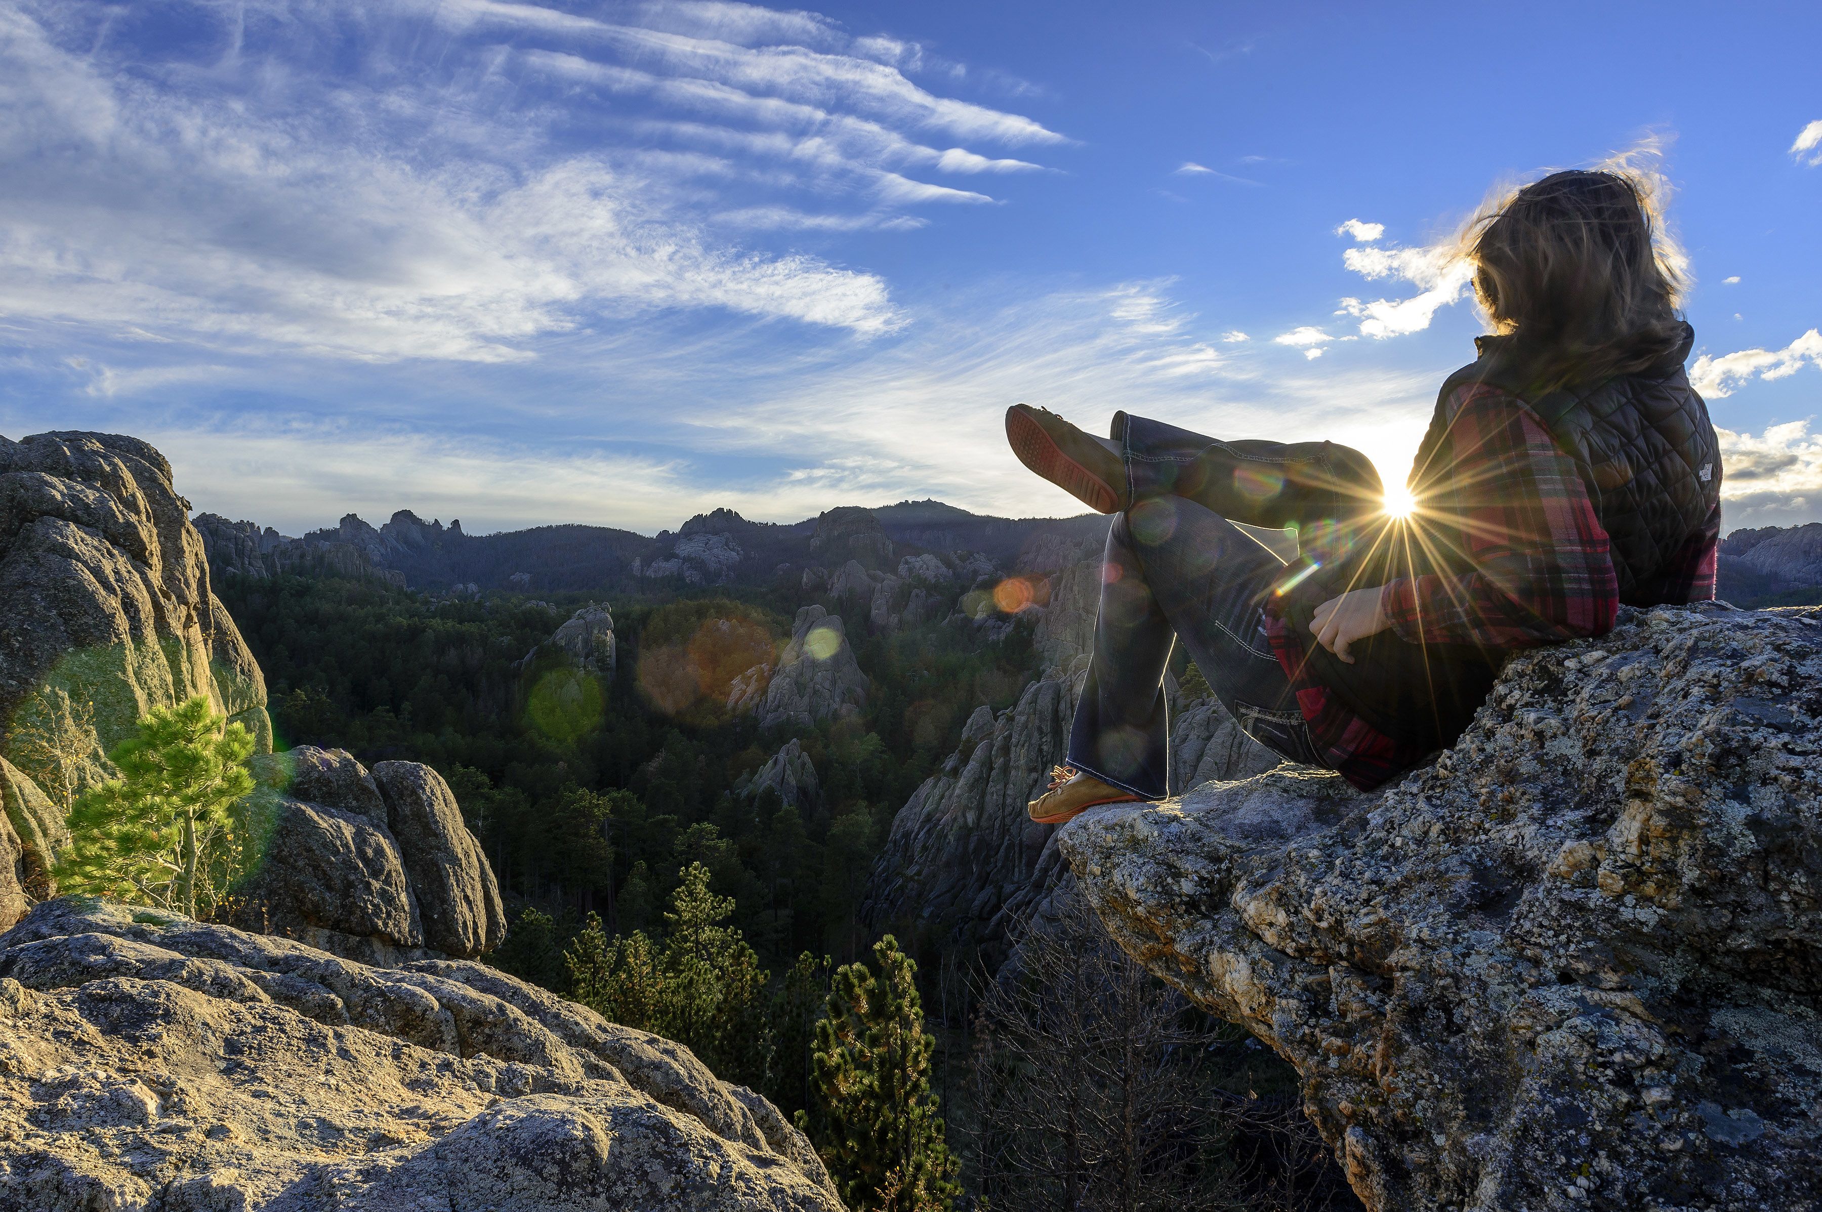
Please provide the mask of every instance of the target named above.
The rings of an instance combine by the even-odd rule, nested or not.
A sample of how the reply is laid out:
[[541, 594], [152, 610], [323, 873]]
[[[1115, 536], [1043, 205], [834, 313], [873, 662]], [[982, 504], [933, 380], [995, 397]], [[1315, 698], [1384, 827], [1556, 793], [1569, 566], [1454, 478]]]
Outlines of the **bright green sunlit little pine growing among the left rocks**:
[[58, 888], [208, 917], [257, 855], [251, 755], [246, 729], [202, 696], [153, 707], [107, 755], [120, 776], [69, 809]]

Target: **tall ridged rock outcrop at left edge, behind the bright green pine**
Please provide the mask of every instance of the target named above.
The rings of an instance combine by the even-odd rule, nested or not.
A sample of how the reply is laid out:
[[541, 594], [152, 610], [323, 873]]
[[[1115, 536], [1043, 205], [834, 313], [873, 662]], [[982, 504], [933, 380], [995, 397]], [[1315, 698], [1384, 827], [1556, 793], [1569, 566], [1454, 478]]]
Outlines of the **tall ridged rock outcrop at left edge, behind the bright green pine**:
[[171, 465], [137, 437], [0, 437], [0, 780], [15, 880], [44, 882], [69, 802], [115, 775], [107, 751], [148, 709], [202, 694], [271, 747], [266, 682], [210, 589], [188, 514]]

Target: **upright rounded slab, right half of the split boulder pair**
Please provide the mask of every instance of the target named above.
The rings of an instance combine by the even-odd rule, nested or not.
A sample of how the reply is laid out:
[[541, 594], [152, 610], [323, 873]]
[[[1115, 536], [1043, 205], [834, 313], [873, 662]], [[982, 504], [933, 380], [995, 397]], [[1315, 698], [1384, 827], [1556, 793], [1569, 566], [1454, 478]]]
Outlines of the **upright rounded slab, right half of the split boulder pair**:
[[425, 946], [448, 955], [492, 951], [507, 937], [507, 911], [448, 784], [417, 762], [381, 762], [374, 782], [412, 877]]

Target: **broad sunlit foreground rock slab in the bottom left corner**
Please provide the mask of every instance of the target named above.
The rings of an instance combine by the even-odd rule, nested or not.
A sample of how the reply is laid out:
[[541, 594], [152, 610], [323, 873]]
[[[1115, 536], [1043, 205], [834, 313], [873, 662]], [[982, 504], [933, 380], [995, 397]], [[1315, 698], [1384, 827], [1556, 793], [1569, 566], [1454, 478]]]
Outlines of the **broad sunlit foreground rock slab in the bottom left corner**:
[[474, 962], [53, 900], [0, 937], [0, 1207], [838, 1212], [685, 1048]]

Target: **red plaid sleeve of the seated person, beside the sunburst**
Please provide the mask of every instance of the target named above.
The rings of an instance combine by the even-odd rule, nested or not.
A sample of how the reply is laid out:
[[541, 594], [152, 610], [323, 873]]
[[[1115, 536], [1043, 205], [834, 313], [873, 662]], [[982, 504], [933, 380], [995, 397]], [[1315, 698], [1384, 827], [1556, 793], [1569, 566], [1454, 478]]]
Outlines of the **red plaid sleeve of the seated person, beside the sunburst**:
[[[1476, 390], [1450, 425], [1454, 457], [1436, 512], [1418, 503], [1416, 547], [1465, 543], [1470, 570], [1399, 578], [1381, 589], [1392, 629], [1412, 643], [1523, 649], [1612, 629], [1620, 587], [1607, 530], [1581, 476], [1536, 416]], [[1447, 514], [1443, 514], [1447, 510]]]

